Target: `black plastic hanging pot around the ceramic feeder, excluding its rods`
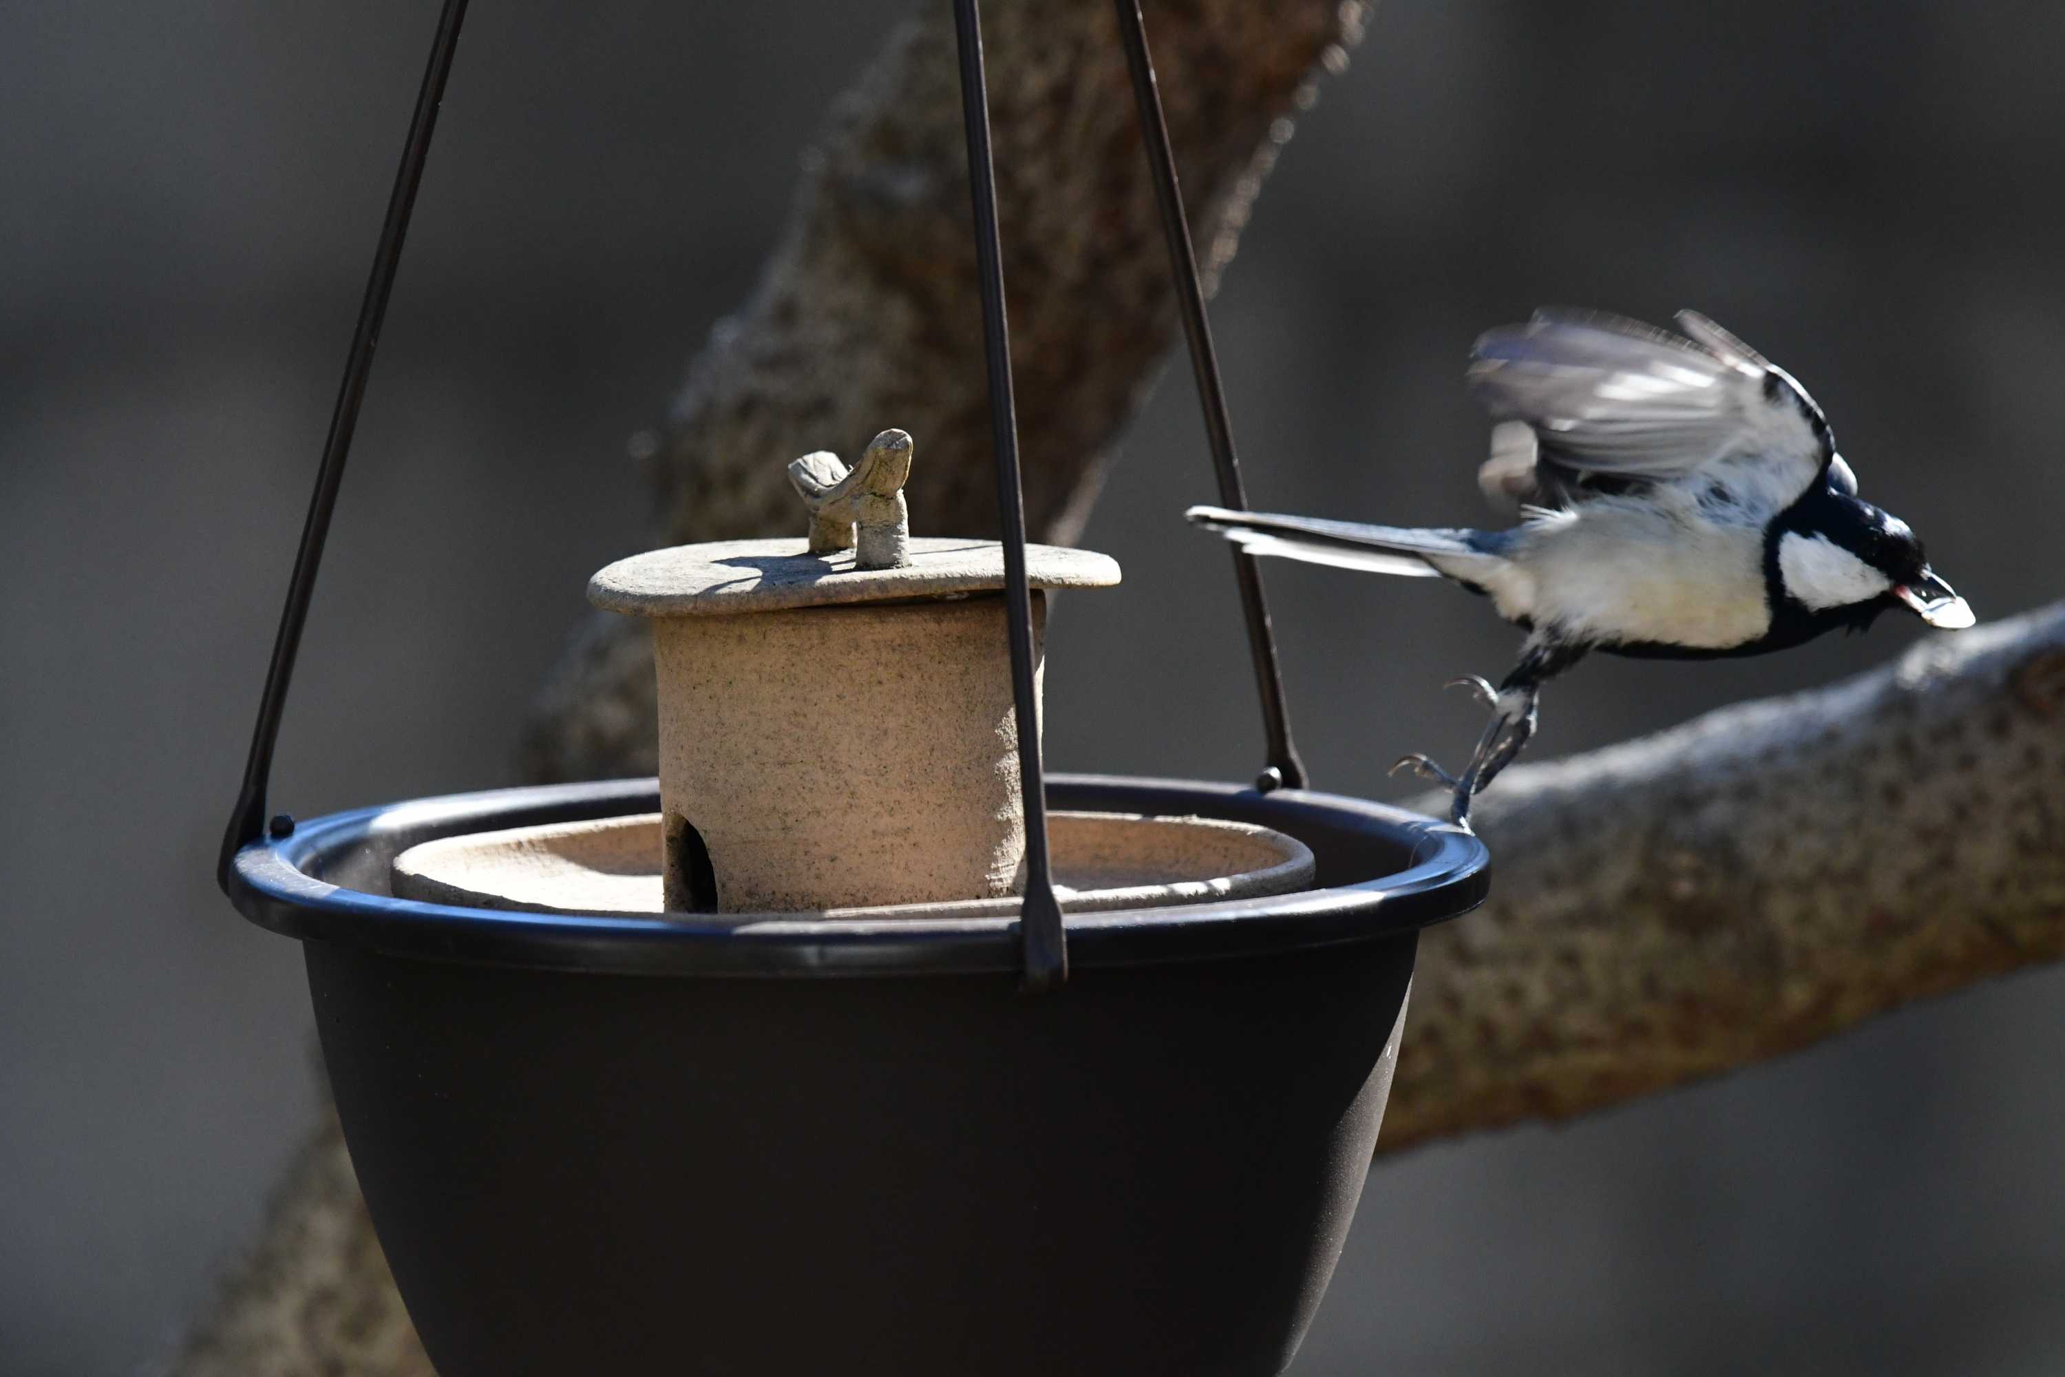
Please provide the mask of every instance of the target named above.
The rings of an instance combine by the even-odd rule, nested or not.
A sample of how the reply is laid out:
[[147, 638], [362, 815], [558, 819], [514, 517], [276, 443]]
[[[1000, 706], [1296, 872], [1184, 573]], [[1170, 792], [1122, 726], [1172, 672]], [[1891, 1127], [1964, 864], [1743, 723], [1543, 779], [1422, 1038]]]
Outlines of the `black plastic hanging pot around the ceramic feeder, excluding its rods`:
[[306, 941], [351, 1158], [444, 1377], [1278, 1373], [1363, 1189], [1417, 931], [1476, 838], [1303, 791], [1055, 778], [1258, 822], [1317, 888], [1016, 923], [444, 908], [390, 857], [653, 809], [650, 780], [341, 813], [244, 846]]

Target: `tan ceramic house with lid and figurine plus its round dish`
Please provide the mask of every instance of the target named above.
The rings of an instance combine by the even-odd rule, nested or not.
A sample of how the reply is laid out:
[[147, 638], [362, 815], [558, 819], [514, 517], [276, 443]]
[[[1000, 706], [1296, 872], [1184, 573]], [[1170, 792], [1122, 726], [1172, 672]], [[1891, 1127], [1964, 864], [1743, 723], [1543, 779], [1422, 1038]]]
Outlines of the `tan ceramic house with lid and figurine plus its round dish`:
[[[890, 429], [853, 473], [832, 454], [795, 460], [807, 539], [681, 545], [601, 570], [589, 597], [653, 623], [661, 811], [425, 842], [394, 859], [394, 894], [543, 912], [1014, 912], [1026, 826], [1004, 551], [911, 537], [911, 452]], [[871, 506], [845, 508], [869, 481]], [[1037, 698], [1047, 590], [1109, 588], [1119, 568], [1030, 545], [1026, 572]], [[1313, 877], [1303, 842], [1249, 824], [1051, 824], [1072, 912]]]

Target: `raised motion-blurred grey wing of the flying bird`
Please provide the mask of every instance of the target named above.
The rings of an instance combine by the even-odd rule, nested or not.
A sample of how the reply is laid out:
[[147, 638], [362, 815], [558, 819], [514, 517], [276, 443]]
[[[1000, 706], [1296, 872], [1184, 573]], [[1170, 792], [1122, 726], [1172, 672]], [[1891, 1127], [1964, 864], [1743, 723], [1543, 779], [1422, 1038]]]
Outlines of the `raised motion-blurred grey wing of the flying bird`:
[[1493, 419], [1524, 421], [1540, 462], [1578, 481], [1669, 483], [1726, 467], [1790, 502], [1834, 458], [1819, 407], [1706, 316], [1681, 312], [1679, 324], [1691, 339], [1621, 316], [1538, 312], [1479, 337], [1470, 390]]

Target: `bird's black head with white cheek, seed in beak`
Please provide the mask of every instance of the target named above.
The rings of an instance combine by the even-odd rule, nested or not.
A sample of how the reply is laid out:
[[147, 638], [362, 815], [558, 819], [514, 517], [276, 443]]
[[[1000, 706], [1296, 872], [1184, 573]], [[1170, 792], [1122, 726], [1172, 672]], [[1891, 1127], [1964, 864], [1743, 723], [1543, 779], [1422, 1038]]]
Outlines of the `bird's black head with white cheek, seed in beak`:
[[1778, 611], [1819, 630], [1869, 626], [1887, 607], [1945, 630], [1972, 626], [1972, 609], [1929, 568], [1908, 522], [1838, 481], [1817, 485], [1774, 524], [1770, 574]]

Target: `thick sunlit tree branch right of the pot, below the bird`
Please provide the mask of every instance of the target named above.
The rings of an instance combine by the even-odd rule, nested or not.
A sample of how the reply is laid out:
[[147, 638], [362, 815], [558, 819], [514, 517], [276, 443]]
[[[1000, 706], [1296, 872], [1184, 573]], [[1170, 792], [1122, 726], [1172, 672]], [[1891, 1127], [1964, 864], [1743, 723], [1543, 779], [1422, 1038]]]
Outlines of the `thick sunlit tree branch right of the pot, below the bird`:
[[1421, 943], [1388, 1152], [2065, 956], [2065, 603], [1510, 770], [1476, 822], [1491, 902]]

